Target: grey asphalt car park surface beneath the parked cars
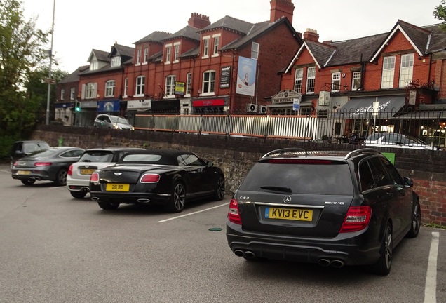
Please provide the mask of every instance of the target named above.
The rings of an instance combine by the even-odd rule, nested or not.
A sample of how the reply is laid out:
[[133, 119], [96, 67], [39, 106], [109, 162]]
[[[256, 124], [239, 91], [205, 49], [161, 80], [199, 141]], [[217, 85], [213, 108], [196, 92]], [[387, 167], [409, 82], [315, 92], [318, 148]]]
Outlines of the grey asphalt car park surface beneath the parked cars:
[[[101, 210], [65, 187], [27, 187], [0, 165], [0, 302], [446, 302], [446, 230], [423, 227], [388, 276], [358, 267], [247, 262], [224, 201]], [[222, 231], [210, 231], [212, 227]]]

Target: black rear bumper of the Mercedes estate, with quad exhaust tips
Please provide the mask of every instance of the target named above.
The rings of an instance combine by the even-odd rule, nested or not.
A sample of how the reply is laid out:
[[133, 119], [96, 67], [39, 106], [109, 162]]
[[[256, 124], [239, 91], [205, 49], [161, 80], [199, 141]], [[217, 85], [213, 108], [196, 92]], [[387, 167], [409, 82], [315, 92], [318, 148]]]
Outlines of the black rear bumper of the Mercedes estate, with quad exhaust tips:
[[[336, 260], [346, 265], [373, 264], [379, 259], [379, 243], [367, 243], [366, 234], [342, 234], [339, 238], [298, 238], [245, 232], [227, 220], [227, 241], [238, 256], [329, 265]], [[243, 252], [243, 253], [242, 253]], [[326, 262], [326, 260], [328, 260]]]

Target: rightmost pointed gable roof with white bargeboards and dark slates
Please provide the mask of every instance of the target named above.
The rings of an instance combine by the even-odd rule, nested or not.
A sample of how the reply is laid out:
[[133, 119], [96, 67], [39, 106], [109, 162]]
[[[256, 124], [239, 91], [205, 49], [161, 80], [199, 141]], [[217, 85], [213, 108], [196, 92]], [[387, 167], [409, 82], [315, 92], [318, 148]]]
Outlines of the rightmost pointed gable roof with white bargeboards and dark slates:
[[386, 36], [386, 39], [384, 39], [384, 41], [381, 43], [381, 46], [379, 46], [379, 48], [376, 50], [370, 59], [370, 62], [373, 62], [378, 57], [378, 55], [386, 47], [386, 43], [388, 43], [388, 41], [390, 41], [397, 32], [403, 33], [407, 41], [412, 44], [418, 55], [423, 56], [427, 54], [429, 43], [431, 41], [431, 32], [422, 27], [417, 27], [416, 25], [411, 25], [410, 23], [398, 20], [391, 32], [389, 32]]

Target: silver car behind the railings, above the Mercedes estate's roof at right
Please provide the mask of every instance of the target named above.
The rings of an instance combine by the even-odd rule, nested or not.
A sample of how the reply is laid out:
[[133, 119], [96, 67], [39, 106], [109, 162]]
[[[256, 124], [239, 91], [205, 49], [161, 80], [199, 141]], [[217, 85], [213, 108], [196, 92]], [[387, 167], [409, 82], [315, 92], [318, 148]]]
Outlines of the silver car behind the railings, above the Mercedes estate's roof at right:
[[365, 147], [396, 147], [412, 149], [435, 149], [412, 135], [403, 135], [400, 133], [378, 132], [365, 138]]

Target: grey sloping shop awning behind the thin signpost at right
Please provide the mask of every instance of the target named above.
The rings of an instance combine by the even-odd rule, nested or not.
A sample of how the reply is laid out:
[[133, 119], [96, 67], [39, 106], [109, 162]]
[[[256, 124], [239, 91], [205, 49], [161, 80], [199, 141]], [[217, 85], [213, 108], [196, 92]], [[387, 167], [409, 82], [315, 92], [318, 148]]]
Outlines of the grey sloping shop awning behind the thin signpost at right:
[[[352, 98], [333, 114], [344, 119], [373, 119], [373, 102], [376, 97]], [[404, 96], [378, 97], [377, 119], [390, 119], [405, 106]]]

